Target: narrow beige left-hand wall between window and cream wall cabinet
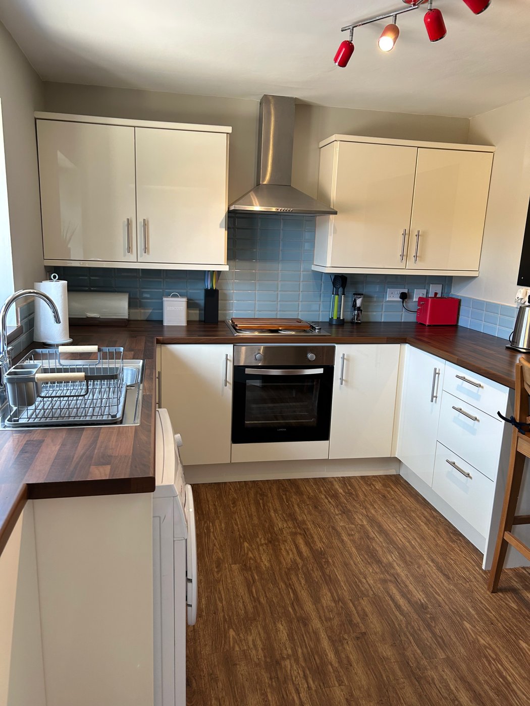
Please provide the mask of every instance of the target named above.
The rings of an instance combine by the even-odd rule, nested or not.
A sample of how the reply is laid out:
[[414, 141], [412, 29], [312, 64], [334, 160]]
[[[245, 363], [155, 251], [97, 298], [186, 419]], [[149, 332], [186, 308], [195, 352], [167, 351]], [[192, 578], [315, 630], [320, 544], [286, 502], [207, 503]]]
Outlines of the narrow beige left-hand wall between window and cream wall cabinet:
[[37, 145], [33, 112], [44, 102], [42, 81], [0, 23], [0, 100], [16, 289], [42, 279]]

